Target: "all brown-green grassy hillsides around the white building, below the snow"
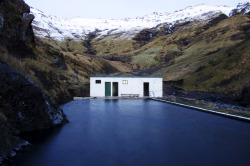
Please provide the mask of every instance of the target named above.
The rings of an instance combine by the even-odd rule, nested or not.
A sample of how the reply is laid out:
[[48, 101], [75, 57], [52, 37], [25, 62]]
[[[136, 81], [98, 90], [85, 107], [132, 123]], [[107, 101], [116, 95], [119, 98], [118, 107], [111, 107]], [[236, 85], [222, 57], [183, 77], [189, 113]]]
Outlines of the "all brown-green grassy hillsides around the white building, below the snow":
[[161, 75], [185, 91], [241, 95], [250, 87], [249, 22], [248, 15], [219, 15], [176, 24], [172, 33], [163, 26], [132, 38], [122, 33], [91, 33], [78, 41], [36, 38], [36, 58], [16, 58], [4, 49], [1, 54], [56, 101], [88, 95], [89, 76], [103, 74]]

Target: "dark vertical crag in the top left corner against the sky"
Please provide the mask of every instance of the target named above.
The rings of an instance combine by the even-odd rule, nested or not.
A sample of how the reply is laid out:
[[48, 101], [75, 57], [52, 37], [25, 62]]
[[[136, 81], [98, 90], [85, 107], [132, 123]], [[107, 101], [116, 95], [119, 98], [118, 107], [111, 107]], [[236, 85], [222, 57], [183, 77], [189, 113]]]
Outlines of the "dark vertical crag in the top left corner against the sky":
[[29, 13], [23, 0], [0, 0], [0, 45], [19, 58], [34, 56], [34, 16]]

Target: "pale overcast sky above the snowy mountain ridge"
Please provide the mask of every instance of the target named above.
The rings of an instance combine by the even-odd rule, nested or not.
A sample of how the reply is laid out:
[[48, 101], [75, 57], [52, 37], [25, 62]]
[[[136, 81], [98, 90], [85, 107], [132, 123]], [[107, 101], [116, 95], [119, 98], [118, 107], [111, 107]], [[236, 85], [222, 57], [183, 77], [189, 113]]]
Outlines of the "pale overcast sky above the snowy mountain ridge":
[[236, 6], [242, 0], [24, 0], [48, 15], [84, 18], [126, 18], [165, 13], [198, 4]]

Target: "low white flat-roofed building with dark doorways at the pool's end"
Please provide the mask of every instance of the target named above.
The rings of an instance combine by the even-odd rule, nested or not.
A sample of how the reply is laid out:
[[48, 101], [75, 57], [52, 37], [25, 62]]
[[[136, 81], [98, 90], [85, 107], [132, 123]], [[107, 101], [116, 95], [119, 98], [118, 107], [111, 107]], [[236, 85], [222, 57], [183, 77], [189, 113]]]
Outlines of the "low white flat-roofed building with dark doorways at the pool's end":
[[91, 76], [90, 97], [162, 97], [158, 76]]

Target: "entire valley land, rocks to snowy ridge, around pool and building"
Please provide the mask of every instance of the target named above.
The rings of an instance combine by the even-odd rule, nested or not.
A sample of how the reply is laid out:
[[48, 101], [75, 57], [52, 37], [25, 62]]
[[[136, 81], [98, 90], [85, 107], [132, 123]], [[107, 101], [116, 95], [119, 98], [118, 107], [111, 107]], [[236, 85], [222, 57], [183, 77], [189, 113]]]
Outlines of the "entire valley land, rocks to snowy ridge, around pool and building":
[[247, 2], [66, 19], [0, 0], [0, 164], [28, 145], [17, 135], [67, 123], [58, 105], [89, 96], [91, 75], [163, 76], [166, 100], [248, 117], [249, 11]]

